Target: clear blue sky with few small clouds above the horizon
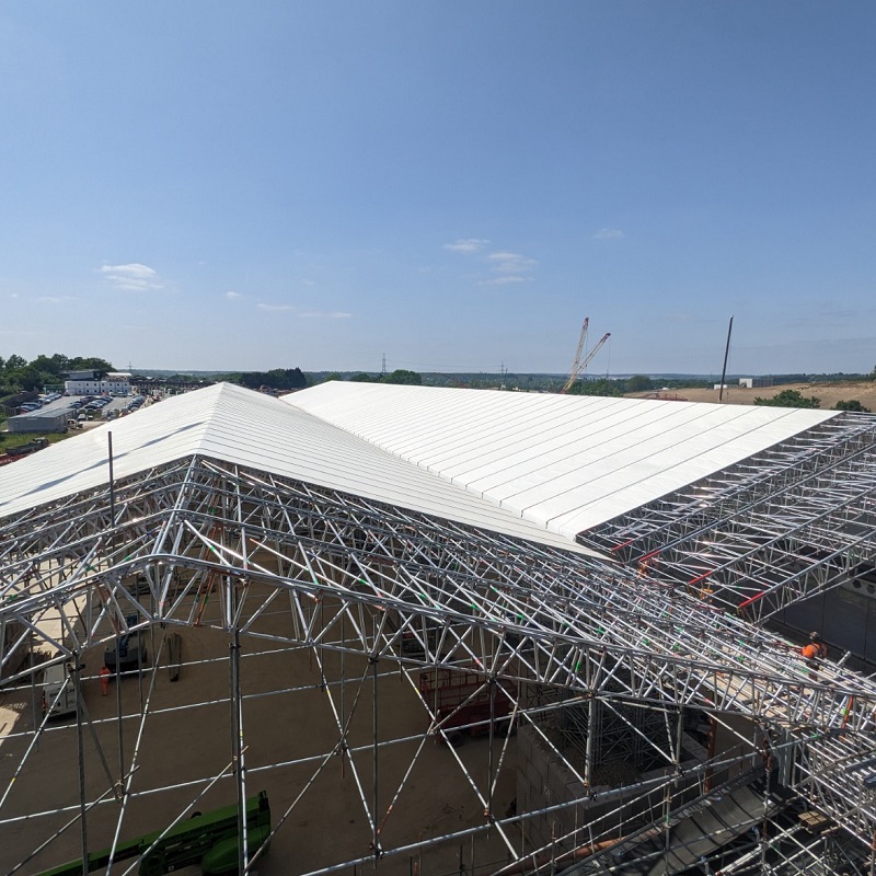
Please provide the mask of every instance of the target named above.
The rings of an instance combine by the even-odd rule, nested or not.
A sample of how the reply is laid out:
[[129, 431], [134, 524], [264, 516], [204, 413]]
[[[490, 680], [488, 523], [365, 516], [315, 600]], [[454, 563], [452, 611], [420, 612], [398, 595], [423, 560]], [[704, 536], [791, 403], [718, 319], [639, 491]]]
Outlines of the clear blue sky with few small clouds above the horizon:
[[876, 4], [0, 4], [0, 355], [869, 371]]

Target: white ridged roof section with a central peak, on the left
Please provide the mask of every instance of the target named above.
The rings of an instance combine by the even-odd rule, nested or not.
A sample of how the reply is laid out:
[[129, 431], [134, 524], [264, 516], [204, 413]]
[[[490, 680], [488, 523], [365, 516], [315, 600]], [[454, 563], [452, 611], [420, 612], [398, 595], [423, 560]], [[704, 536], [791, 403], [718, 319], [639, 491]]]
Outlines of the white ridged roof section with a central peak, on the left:
[[218, 384], [82, 435], [0, 469], [0, 518], [199, 454], [521, 539], [585, 551], [476, 494], [301, 408]]

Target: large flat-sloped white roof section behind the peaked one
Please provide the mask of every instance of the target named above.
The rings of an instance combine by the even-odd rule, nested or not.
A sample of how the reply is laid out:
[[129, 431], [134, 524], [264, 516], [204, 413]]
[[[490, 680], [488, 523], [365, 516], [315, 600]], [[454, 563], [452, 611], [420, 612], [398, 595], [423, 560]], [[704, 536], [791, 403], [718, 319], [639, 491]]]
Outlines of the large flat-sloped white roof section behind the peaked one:
[[835, 416], [342, 382], [284, 401], [569, 539]]

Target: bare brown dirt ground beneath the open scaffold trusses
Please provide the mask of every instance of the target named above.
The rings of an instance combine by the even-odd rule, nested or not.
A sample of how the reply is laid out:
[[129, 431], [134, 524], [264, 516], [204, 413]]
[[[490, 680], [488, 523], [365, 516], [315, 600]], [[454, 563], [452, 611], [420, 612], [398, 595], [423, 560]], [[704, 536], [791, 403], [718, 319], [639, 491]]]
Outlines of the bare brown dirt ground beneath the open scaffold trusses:
[[[279, 615], [278, 624], [288, 622], [288, 616]], [[228, 638], [207, 629], [181, 627], [176, 632], [183, 636], [185, 661], [178, 681], [170, 681], [163, 665], [154, 673], [151, 696], [151, 672], [126, 676], [120, 681], [124, 758], [128, 765], [132, 758], [136, 762], [120, 831], [123, 840], [164, 828], [195, 800], [206, 777], [223, 771], [226, 777], [192, 809], [206, 812], [235, 799], [235, 785], [228, 769], [232, 751]], [[151, 635], [150, 662], [162, 631], [154, 629]], [[347, 655], [343, 658], [342, 683], [339, 654], [323, 652], [322, 657], [327, 685], [322, 683], [319, 658], [313, 652], [273, 643], [263, 648], [253, 639], [243, 643], [246, 793], [252, 796], [267, 791], [273, 825], [288, 812], [269, 852], [257, 864], [257, 872], [264, 876], [309, 873], [369, 855], [372, 832], [362, 798], [370, 807], [376, 793], [371, 670], [364, 658]], [[164, 661], [162, 657], [161, 662]], [[102, 648], [84, 655], [84, 701], [93, 726], [93, 734], [88, 726], [83, 734], [90, 800], [108, 792], [119, 774], [115, 681], [110, 684], [108, 695], [102, 695], [97, 678], [102, 664]], [[484, 825], [483, 805], [456, 756], [483, 788], [488, 774], [488, 740], [468, 739], [458, 749], [431, 738], [424, 741], [428, 719], [407, 673], [400, 672], [390, 661], [382, 661], [379, 668], [377, 811], [383, 822], [383, 848]], [[416, 679], [415, 673], [412, 677]], [[37, 700], [38, 693], [36, 689]], [[0, 817], [30, 816], [0, 827], [1, 874], [10, 873], [66, 825], [67, 829], [48, 849], [15, 872], [38, 874], [81, 855], [80, 823], [74, 820], [79, 811], [74, 716], [51, 722], [11, 784], [34, 742], [34, 718], [41, 717], [38, 708], [34, 713], [32, 694], [34, 691], [26, 687], [0, 694], [0, 798], [11, 786]], [[147, 702], [147, 717], [141, 725], [141, 704], [146, 706]], [[347, 742], [355, 773], [348, 760], [332, 753], [339, 739], [336, 715], [349, 719]], [[498, 763], [504, 741], [494, 742], [494, 763]], [[508, 744], [494, 795], [494, 811], [500, 816], [516, 794], [516, 747], [514, 739]], [[64, 812], [49, 812], [64, 807]], [[111, 794], [90, 812], [90, 851], [110, 846], [118, 812], [119, 804]], [[188, 815], [191, 810], [185, 817]], [[516, 844], [519, 845], [519, 833]], [[471, 872], [472, 856], [482, 865], [497, 862], [481, 871], [487, 873], [507, 862], [508, 852], [492, 829], [488, 838], [474, 843], [466, 838], [422, 855], [387, 856], [377, 864], [376, 872], [459, 873], [461, 857]], [[125, 872], [130, 863], [116, 865], [113, 873]], [[364, 866], [374, 869], [371, 862]]]

